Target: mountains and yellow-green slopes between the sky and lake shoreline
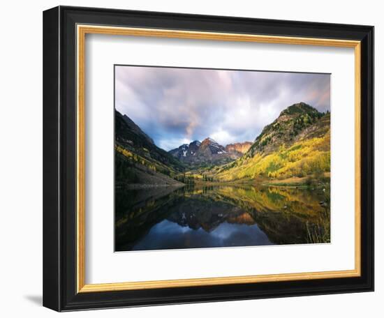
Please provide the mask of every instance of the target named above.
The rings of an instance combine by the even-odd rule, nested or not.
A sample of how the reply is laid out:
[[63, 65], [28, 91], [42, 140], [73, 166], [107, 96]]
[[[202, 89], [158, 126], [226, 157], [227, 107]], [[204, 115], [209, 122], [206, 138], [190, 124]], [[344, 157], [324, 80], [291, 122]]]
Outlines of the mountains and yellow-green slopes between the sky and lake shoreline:
[[284, 109], [253, 142], [207, 137], [164, 151], [115, 110], [116, 186], [216, 183], [323, 187], [330, 181], [330, 113], [306, 103]]

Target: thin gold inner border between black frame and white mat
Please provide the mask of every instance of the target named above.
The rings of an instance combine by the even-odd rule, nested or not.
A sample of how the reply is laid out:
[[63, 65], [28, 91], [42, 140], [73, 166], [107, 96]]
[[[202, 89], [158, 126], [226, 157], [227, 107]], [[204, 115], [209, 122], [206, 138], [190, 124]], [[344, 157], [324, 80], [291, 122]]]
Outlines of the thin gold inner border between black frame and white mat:
[[[352, 47], [355, 49], [355, 268], [345, 271], [322, 271], [308, 273], [281, 273], [272, 275], [246, 275], [219, 278], [192, 278], [182, 280], [154, 280], [144, 282], [119, 282], [85, 284], [85, 36], [86, 34], [112, 36], [147, 36], [160, 38], [188, 38], [236, 42], [279, 43], [291, 45], [316, 45], [328, 47]], [[77, 292], [110, 292], [133, 289], [166, 287], [192, 287], [228, 285], [253, 282], [276, 282], [288, 280], [313, 280], [320, 278], [347, 278], [361, 275], [361, 202], [360, 202], [360, 85], [361, 43], [357, 40], [326, 38], [296, 38], [286, 36], [261, 36], [253, 34], [179, 31], [169, 29], [142, 29], [129, 27], [105, 27], [77, 25]]]

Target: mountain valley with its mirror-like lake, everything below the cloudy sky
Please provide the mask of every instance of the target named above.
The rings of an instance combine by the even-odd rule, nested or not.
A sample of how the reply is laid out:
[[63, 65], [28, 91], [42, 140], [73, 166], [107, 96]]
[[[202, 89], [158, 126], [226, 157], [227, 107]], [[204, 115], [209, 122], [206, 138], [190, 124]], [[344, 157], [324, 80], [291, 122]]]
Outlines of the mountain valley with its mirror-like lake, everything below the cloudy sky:
[[115, 111], [115, 250], [330, 243], [330, 113], [291, 105], [253, 142], [165, 151]]

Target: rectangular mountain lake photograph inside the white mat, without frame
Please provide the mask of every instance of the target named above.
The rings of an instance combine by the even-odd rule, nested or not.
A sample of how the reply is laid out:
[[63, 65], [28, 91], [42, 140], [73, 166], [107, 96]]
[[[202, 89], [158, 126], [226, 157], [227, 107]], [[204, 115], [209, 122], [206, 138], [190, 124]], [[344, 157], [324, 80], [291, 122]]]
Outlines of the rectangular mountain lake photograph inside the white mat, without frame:
[[330, 90], [115, 65], [115, 252], [330, 243]]

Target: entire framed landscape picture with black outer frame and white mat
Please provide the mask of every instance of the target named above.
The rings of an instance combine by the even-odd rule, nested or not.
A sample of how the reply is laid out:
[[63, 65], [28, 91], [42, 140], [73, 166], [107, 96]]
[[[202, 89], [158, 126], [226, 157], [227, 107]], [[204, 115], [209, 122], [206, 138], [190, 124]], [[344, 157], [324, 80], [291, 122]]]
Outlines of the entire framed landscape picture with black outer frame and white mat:
[[374, 290], [374, 27], [43, 14], [43, 305]]

